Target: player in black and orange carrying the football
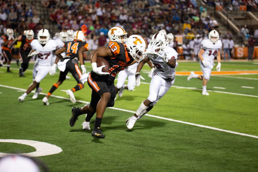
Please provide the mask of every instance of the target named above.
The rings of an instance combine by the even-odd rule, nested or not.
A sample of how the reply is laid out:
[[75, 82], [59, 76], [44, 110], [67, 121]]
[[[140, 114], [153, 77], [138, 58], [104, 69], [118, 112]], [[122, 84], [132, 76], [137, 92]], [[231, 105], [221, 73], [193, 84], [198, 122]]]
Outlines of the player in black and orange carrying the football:
[[[116, 88], [114, 80], [116, 75], [130, 64], [142, 60], [142, 53], [145, 51], [146, 46], [147, 43], [142, 36], [132, 35], [126, 41], [126, 45], [110, 41], [109, 46], [99, 47], [91, 52], [93, 70], [87, 77], [88, 85], [92, 89], [91, 102], [81, 108], [72, 108], [70, 126], [74, 126], [78, 116], [96, 112], [95, 126], [91, 135], [97, 138], [105, 138], [105, 135], [101, 132], [100, 125], [106, 107], [112, 107], [115, 103]], [[97, 57], [103, 57], [108, 61], [110, 65], [109, 72], [102, 72], [102, 68], [105, 65], [97, 67]]]

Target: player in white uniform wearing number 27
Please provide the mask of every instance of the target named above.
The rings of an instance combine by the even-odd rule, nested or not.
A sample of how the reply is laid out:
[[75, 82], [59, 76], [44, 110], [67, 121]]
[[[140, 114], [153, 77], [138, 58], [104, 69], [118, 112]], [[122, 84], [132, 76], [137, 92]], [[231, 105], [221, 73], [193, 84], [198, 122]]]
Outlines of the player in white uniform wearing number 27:
[[23, 102], [25, 97], [35, 88], [36, 91], [32, 99], [38, 98], [39, 93], [42, 91], [42, 88], [39, 87], [39, 83], [48, 74], [48, 71], [51, 68], [51, 61], [53, 58], [52, 52], [56, 50], [57, 46], [55, 40], [49, 38], [50, 34], [48, 30], [41, 29], [38, 32], [38, 39], [34, 39], [30, 44], [32, 50], [28, 57], [37, 55], [37, 59], [33, 67], [33, 83], [30, 84], [24, 94], [18, 97], [20, 102]]

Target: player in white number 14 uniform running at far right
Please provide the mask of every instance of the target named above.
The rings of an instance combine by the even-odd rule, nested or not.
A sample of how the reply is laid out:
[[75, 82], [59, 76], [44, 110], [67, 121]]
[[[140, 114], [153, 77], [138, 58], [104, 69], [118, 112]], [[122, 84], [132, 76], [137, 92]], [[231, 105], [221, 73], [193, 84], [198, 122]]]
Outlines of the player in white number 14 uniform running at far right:
[[191, 75], [187, 78], [189, 81], [192, 78], [198, 78], [202, 80], [202, 94], [209, 95], [206, 90], [207, 82], [210, 79], [212, 68], [214, 67], [214, 58], [217, 56], [218, 65], [216, 67], [217, 71], [220, 71], [221, 67], [221, 57], [220, 57], [220, 49], [222, 47], [222, 42], [219, 40], [220, 36], [216, 30], [212, 30], [209, 33], [209, 39], [204, 39], [201, 42], [201, 49], [198, 53], [198, 57], [200, 58], [200, 66], [202, 68], [203, 75], [195, 74], [193, 71]]

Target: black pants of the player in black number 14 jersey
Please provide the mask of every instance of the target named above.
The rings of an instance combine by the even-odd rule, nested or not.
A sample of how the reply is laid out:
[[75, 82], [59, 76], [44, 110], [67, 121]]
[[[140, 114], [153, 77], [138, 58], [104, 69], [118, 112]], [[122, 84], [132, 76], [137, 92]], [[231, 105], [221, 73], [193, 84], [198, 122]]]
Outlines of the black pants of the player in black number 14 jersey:
[[64, 81], [68, 72], [71, 72], [78, 84], [81, 83], [79, 80], [81, 79], [82, 74], [77, 60], [72, 59], [66, 63], [64, 72], [60, 71], [59, 80]]

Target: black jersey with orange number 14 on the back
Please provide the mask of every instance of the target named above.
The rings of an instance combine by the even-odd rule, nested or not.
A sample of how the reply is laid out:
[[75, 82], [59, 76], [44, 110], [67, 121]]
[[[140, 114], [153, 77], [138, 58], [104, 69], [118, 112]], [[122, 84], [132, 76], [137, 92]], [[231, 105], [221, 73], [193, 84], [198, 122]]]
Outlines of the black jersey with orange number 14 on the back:
[[66, 48], [64, 58], [79, 58], [78, 57], [78, 50], [81, 47], [85, 47], [86, 50], [89, 50], [89, 44], [82, 41], [67, 41], [64, 43], [64, 47]]

